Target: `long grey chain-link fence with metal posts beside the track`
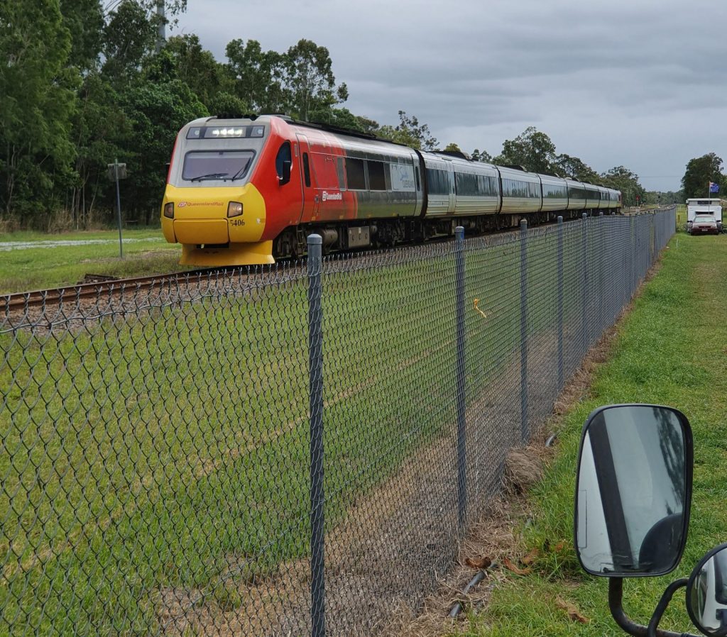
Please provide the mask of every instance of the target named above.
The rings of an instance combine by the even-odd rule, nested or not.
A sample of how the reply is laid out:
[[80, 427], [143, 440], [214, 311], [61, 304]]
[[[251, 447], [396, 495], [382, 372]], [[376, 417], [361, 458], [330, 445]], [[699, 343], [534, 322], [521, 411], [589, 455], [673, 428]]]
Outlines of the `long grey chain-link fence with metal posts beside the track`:
[[6, 309], [0, 634], [384, 633], [674, 228], [313, 251]]

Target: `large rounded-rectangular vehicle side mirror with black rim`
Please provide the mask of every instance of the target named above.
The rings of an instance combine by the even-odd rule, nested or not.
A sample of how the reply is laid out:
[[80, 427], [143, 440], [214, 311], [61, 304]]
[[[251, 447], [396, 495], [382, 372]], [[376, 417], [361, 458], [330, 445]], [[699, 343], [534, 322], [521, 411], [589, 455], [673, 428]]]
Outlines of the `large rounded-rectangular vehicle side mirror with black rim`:
[[682, 413], [614, 405], [590, 415], [575, 519], [576, 550], [588, 572], [635, 577], [672, 571], [686, 543], [689, 498], [691, 431]]

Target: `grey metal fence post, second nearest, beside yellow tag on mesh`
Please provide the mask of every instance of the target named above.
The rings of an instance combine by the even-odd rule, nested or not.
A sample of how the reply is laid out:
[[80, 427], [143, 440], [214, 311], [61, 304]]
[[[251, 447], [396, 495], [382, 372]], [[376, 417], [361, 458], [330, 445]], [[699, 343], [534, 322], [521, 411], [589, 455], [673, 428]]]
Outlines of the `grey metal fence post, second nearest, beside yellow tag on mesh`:
[[465, 439], [465, 228], [454, 230], [457, 296], [457, 520], [459, 530], [467, 516], [467, 447]]

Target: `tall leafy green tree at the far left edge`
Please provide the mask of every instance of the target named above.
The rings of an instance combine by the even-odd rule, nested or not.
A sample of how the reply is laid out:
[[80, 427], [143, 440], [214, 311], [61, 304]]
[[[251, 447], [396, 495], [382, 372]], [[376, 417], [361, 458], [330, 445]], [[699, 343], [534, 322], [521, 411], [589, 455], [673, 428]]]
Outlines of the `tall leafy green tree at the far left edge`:
[[58, 0], [0, 3], [0, 208], [47, 209], [68, 182], [76, 69]]

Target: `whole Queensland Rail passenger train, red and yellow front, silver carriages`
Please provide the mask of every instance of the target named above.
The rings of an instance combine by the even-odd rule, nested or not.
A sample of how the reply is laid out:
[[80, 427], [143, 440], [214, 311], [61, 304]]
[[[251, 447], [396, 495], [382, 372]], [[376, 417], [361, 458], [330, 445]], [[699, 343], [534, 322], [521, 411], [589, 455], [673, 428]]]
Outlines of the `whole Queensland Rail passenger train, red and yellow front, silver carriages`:
[[603, 186], [260, 115], [182, 128], [161, 225], [182, 264], [249, 265], [302, 256], [313, 232], [341, 251], [620, 207], [621, 193]]

